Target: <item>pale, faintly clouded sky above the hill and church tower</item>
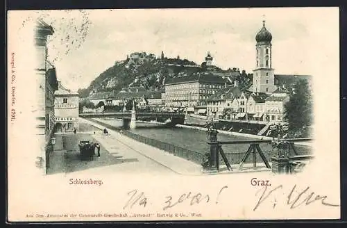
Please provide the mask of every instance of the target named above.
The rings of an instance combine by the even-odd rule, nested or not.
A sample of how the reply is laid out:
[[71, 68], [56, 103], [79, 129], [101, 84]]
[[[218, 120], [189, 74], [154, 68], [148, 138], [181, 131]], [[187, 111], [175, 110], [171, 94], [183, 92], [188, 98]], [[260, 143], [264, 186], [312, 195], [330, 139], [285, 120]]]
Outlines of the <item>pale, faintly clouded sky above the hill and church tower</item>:
[[[135, 51], [201, 64], [208, 51], [222, 69], [255, 67], [255, 35], [266, 21], [275, 74], [314, 74], [338, 31], [336, 8], [219, 8], [37, 11], [53, 26], [49, 60], [71, 90], [87, 88], [101, 72]], [[337, 9], [338, 10], [338, 9]], [[322, 16], [323, 15], [323, 16]], [[338, 25], [337, 25], [338, 28]], [[69, 50], [69, 51], [67, 51]], [[321, 51], [320, 51], [321, 50]], [[322, 51], [323, 50], [323, 51]]]

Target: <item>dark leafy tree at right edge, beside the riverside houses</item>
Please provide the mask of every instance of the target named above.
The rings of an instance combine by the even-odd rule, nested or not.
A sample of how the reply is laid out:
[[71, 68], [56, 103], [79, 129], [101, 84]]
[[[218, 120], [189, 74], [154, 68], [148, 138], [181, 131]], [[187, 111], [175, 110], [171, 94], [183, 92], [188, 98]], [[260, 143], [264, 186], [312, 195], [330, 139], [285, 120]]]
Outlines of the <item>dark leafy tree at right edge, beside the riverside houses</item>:
[[285, 104], [285, 120], [293, 137], [305, 137], [305, 127], [313, 121], [312, 93], [306, 79], [294, 84], [289, 101]]

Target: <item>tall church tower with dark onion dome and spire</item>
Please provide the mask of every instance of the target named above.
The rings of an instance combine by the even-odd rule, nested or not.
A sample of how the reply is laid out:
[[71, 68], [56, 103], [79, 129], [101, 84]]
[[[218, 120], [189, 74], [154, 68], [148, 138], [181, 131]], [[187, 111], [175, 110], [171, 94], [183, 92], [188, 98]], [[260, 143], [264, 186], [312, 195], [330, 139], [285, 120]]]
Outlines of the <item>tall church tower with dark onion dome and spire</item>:
[[265, 21], [262, 23], [262, 29], [255, 35], [257, 55], [255, 70], [253, 70], [253, 92], [270, 94], [276, 90], [275, 74], [272, 68], [272, 35], [267, 31]]

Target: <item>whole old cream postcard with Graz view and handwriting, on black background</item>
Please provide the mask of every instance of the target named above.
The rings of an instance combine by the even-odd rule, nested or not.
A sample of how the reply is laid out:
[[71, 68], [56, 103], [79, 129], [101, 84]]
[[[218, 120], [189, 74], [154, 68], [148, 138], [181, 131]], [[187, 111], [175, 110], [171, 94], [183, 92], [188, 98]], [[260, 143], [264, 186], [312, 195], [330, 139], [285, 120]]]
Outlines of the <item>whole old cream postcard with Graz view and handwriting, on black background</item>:
[[9, 222], [340, 218], [339, 8], [7, 28]]

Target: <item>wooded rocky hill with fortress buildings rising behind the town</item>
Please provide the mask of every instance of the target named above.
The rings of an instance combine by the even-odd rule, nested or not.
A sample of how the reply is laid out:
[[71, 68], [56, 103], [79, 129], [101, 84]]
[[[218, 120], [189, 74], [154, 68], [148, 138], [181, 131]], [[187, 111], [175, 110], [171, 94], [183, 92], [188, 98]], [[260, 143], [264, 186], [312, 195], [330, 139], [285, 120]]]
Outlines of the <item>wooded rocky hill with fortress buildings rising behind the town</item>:
[[251, 82], [251, 74], [239, 72], [237, 68], [221, 70], [221, 68], [205, 62], [198, 65], [187, 59], [167, 58], [162, 54], [156, 57], [146, 52], [135, 52], [127, 56], [126, 60], [116, 61], [94, 79], [90, 86], [79, 89], [81, 97], [89, 97], [97, 92], [118, 92], [128, 86], [144, 86], [148, 90], [163, 90], [168, 79], [191, 75], [196, 72], [215, 72], [230, 77], [230, 81], [237, 79], [245, 87]]

